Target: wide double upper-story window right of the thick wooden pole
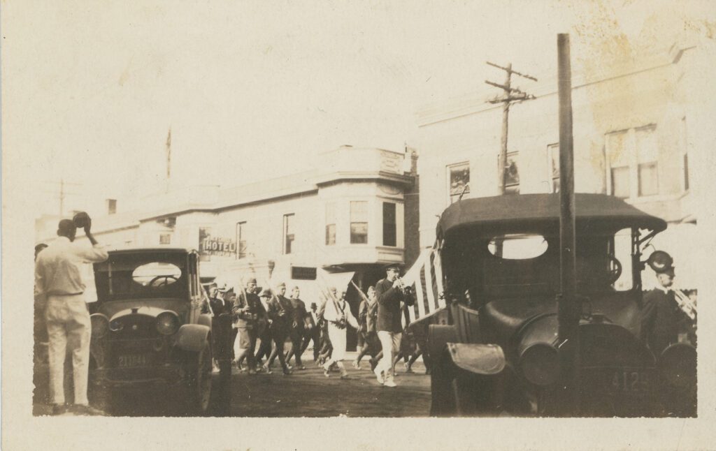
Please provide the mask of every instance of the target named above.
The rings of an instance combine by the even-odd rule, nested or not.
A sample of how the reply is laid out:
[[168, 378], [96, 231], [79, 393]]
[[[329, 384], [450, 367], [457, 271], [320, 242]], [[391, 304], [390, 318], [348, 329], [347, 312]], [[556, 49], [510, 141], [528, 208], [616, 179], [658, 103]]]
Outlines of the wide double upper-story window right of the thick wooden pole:
[[629, 199], [659, 194], [656, 126], [606, 134], [609, 194]]

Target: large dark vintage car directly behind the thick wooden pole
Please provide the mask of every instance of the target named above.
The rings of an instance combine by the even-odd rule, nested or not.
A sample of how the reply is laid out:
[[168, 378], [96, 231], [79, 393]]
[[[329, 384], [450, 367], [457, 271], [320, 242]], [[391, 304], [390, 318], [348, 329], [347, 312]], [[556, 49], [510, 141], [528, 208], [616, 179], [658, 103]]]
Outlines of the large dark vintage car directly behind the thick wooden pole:
[[[576, 194], [575, 211], [578, 415], [694, 416], [695, 347], [654, 355], [641, 339], [642, 252], [667, 224], [601, 194]], [[559, 214], [558, 194], [465, 199], [443, 212], [448, 307], [424, 320], [432, 415], [563, 415]]]

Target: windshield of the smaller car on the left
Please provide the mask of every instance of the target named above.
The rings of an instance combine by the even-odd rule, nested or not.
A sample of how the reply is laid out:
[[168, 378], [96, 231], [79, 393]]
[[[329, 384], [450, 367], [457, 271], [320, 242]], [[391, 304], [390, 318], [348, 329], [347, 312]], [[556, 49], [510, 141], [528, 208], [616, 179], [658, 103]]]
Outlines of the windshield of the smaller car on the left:
[[111, 255], [95, 264], [100, 301], [183, 297], [187, 293], [186, 254], [142, 252]]

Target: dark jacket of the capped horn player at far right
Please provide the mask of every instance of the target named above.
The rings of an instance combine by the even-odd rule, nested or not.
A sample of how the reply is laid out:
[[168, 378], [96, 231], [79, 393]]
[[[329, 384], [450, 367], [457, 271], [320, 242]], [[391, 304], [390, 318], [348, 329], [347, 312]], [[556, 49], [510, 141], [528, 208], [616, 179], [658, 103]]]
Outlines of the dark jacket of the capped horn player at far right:
[[644, 294], [642, 309], [642, 338], [659, 358], [662, 351], [679, 339], [679, 319], [681, 310], [674, 299], [674, 292], [664, 293], [654, 288]]

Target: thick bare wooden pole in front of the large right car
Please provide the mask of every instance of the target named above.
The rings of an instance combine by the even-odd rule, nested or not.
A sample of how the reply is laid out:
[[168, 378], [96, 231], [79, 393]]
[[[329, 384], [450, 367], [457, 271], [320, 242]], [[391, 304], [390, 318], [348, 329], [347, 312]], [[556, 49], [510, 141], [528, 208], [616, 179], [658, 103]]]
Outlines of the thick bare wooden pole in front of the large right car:
[[572, 86], [569, 34], [557, 35], [559, 96], [559, 239], [561, 294], [558, 299], [558, 337], [563, 384], [566, 389], [566, 416], [579, 413], [579, 318], [581, 304], [576, 297], [574, 222], [574, 143], [572, 137]]

